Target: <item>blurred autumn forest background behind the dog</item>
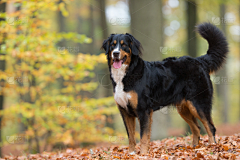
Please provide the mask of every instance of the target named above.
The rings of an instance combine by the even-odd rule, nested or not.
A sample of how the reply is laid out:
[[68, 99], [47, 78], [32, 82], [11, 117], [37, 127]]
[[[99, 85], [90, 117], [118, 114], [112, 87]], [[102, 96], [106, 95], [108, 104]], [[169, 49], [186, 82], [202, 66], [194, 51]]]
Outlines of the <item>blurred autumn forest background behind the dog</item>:
[[[148, 61], [197, 57], [208, 48], [194, 31], [202, 22], [218, 26], [230, 47], [211, 75], [217, 134], [240, 132], [239, 0], [2, 0], [0, 12], [1, 156], [127, 145], [103, 40], [131, 33]], [[188, 134], [174, 106], [154, 113], [152, 140]]]

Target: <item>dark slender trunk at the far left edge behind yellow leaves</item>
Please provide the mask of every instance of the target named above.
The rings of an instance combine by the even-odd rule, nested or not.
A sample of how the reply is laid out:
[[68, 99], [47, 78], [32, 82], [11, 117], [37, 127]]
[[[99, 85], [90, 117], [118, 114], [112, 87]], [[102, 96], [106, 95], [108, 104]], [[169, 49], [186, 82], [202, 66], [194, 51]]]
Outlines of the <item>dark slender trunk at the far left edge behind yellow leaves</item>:
[[[0, 4], [0, 12], [5, 13], [6, 12], [6, 3], [1, 3]], [[4, 21], [5, 19], [0, 18], [0, 21]], [[3, 37], [3, 40], [0, 42], [0, 46], [3, 45], [4, 42], [4, 37], [5, 35], [1, 35]], [[1, 49], [1, 47], [0, 47]], [[3, 53], [2, 50], [0, 50], [0, 70], [5, 71], [6, 67], [6, 61], [5, 61], [5, 53]], [[2, 88], [4, 87], [5, 81], [0, 81], [0, 110], [3, 110], [3, 105], [4, 105], [4, 92]], [[2, 116], [0, 116], [0, 144], [2, 145]], [[0, 147], [0, 157], [2, 157], [2, 147]]]

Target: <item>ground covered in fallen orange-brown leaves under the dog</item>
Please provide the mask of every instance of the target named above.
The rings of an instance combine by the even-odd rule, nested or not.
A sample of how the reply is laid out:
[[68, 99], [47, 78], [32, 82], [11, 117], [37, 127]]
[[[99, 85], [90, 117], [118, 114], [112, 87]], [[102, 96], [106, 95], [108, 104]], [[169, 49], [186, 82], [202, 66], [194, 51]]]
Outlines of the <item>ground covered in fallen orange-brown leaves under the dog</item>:
[[92, 149], [67, 149], [62, 152], [44, 152], [28, 156], [6, 156], [5, 159], [240, 159], [240, 134], [233, 136], [216, 136], [217, 144], [208, 144], [207, 136], [201, 137], [200, 144], [191, 147], [192, 137], [173, 137], [150, 143], [150, 152], [140, 154], [140, 146], [136, 146], [136, 154], [130, 155], [128, 146], [113, 145]]

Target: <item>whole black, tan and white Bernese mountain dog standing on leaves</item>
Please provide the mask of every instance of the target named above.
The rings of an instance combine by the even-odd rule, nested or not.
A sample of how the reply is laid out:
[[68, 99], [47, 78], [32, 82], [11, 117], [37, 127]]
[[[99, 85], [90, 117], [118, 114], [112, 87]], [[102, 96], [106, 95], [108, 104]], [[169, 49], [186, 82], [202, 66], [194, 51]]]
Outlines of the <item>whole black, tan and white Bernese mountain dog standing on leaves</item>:
[[127, 130], [129, 152], [135, 153], [135, 118], [140, 124], [140, 151], [144, 154], [149, 149], [153, 112], [169, 105], [176, 106], [189, 124], [193, 146], [198, 145], [200, 138], [197, 119], [203, 123], [209, 143], [216, 143], [210, 74], [225, 62], [228, 43], [211, 23], [198, 25], [197, 32], [208, 41], [207, 54], [153, 62], [140, 57], [141, 43], [131, 34], [111, 34], [104, 40], [102, 48], [107, 55], [114, 99]]

